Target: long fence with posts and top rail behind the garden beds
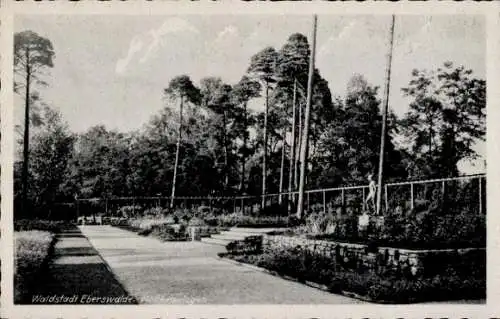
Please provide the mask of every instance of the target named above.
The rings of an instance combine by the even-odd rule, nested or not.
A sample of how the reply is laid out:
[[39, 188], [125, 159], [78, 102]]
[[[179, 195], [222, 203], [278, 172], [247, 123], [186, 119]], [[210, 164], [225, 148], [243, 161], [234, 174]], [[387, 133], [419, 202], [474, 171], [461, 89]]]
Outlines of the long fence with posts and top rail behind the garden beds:
[[[343, 211], [375, 211], [374, 201], [367, 202], [368, 185], [307, 190], [307, 213]], [[428, 207], [438, 202], [471, 213], [486, 212], [486, 175], [454, 178], [415, 180], [388, 183], [383, 187], [382, 212]], [[261, 210], [264, 197], [265, 208]], [[206, 196], [175, 197], [174, 209], [206, 210], [217, 214], [241, 213], [245, 215], [287, 215], [296, 210], [298, 191], [260, 196]], [[102, 214], [128, 216], [164, 214], [170, 211], [170, 197], [116, 197], [78, 199], [76, 215]]]

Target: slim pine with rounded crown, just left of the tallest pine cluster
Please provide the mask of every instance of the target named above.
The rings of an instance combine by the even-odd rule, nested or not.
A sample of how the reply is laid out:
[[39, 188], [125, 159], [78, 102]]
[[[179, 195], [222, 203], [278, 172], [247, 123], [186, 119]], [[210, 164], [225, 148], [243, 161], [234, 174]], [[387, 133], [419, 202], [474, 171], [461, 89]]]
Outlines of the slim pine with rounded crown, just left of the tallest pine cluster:
[[267, 178], [267, 116], [269, 111], [269, 87], [276, 82], [276, 62], [278, 53], [272, 47], [265, 48], [252, 56], [248, 73], [258, 78], [264, 84], [265, 105], [264, 105], [264, 133], [263, 133], [263, 158], [262, 158], [262, 202], [265, 206], [266, 178]]

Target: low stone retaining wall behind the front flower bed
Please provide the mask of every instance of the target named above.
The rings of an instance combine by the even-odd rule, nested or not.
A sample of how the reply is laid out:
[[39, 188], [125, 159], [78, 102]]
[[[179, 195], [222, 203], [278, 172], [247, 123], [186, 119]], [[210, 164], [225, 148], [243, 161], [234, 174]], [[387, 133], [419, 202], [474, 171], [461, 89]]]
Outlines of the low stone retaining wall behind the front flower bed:
[[378, 247], [373, 251], [367, 245], [314, 240], [283, 235], [264, 235], [264, 252], [279, 248], [300, 248], [327, 258], [351, 269], [365, 269], [379, 272], [395, 270], [407, 271], [413, 275], [434, 272], [447, 266], [460, 266], [461, 263], [486, 265], [485, 248], [410, 250], [391, 247]]

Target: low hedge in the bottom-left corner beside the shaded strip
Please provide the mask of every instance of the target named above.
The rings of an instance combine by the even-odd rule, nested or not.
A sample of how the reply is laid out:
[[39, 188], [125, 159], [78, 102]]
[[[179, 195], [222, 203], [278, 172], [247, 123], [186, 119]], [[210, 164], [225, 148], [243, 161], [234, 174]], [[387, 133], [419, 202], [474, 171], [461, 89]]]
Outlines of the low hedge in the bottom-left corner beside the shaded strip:
[[38, 279], [53, 245], [54, 234], [39, 230], [20, 231], [14, 233], [14, 241], [14, 299], [21, 302]]

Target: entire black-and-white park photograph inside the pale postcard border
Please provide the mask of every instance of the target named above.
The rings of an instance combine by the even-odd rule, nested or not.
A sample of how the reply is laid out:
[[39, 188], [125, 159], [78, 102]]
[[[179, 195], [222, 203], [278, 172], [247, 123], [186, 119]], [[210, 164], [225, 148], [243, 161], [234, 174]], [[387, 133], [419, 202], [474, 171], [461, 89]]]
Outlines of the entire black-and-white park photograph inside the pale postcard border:
[[15, 305], [486, 304], [484, 15], [173, 14], [14, 16]]

